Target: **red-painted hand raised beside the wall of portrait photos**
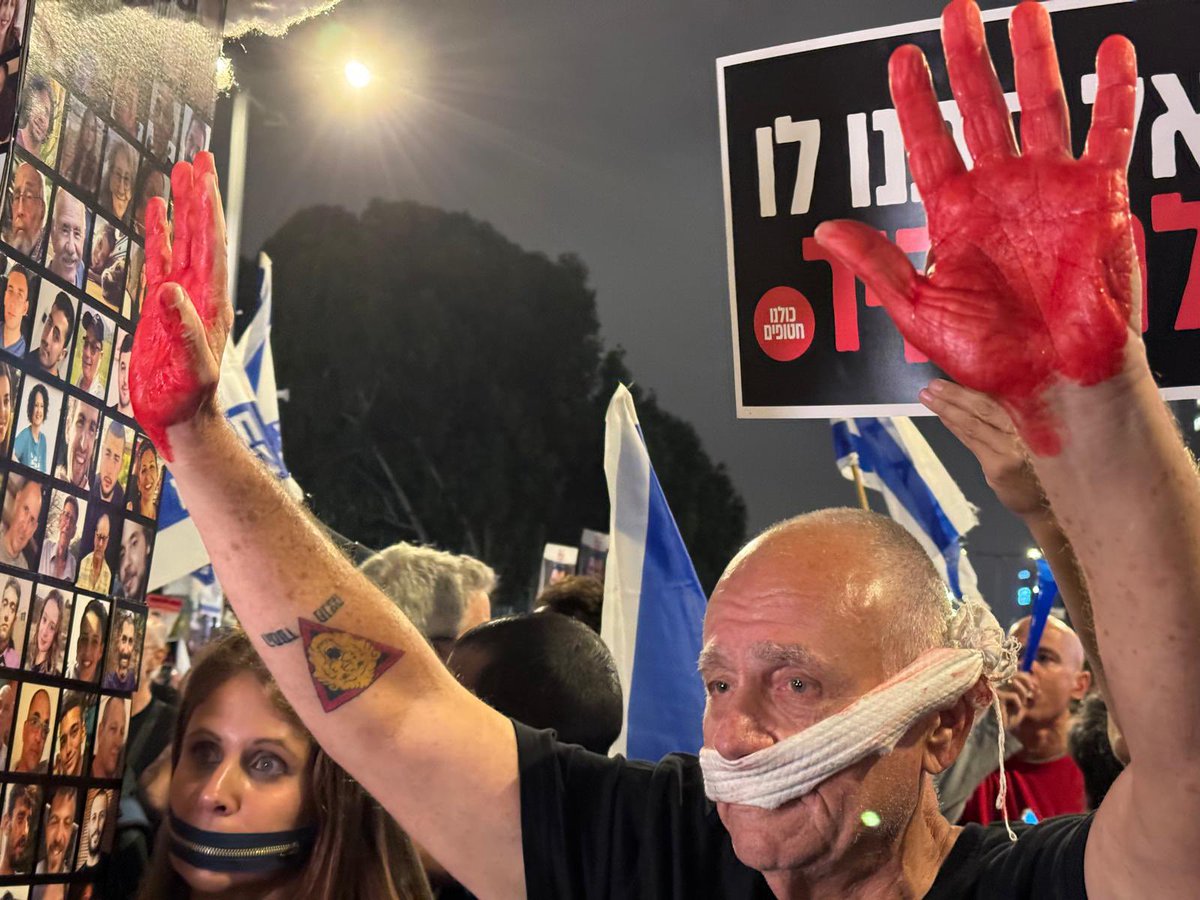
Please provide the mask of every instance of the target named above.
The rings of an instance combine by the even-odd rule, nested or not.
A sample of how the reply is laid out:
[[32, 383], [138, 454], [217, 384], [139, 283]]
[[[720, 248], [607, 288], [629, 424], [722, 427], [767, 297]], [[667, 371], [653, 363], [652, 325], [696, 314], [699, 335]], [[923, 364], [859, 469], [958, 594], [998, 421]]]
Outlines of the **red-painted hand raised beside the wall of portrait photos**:
[[175, 240], [167, 204], [146, 208], [146, 302], [130, 360], [138, 422], [168, 460], [167, 430], [215, 408], [221, 354], [233, 325], [226, 283], [226, 230], [212, 155], [178, 163], [170, 175]]

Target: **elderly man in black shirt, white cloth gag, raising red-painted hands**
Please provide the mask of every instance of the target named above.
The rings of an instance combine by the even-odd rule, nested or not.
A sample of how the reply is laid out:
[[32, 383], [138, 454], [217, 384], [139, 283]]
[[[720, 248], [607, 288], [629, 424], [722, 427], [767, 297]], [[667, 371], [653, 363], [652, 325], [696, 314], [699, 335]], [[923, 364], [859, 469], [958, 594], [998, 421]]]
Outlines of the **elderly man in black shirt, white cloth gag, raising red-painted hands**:
[[[892, 60], [936, 266], [913, 271], [859, 223], [817, 238], [918, 349], [1010, 409], [1092, 587], [1132, 761], [1094, 816], [1016, 823], [1015, 840], [952, 826], [931, 780], [1010, 673], [1012, 648], [976, 604], [952, 617], [919, 547], [868, 514], [793, 520], [730, 564], [704, 622], [702, 763], [590, 755], [472, 697], [222, 416], [223, 254], [194, 268], [223, 246], [216, 180], [205, 154], [176, 167], [188, 227], [175, 230], [175, 268], [151, 276], [139, 337], [156, 337], [134, 348], [131, 370], [138, 418], [173, 455], [217, 575], [316, 740], [472, 892], [1105, 900], [1195, 889], [1200, 476], [1129, 325], [1133, 48], [1120, 37], [1100, 48], [1093, 127], [1074, 160], [1048, 13], [1026, 2], [1013, 17], [1024, 154], [983, 35], [974, 2], [954, 0], [943, 38], [970, 170], [920, 50]], [[166, 259], [162, 204], [149, 226], [148, 257]], [[166, 379], [179, 388], [155, 392]]]

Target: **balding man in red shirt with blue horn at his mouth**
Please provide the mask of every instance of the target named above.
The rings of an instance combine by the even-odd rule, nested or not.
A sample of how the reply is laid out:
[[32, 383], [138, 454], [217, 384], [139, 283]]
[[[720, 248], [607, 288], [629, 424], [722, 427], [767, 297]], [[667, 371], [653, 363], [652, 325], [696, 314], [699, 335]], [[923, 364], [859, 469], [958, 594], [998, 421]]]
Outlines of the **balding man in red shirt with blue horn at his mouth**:
[[[1013, 626], [1013, 634], [1026, 646], [1030, 617]], [[1084, 644], [1069, 625], [1052, 616], [1033, 659], [1032, 694], [1020, 709], [1008, 718], [1009, 733], [1020, 744], [1006, 762], [1008, 817], [1018, 820], [1032, 814], [1038, 821], [1087, 809], [1084, 773], [1067, 748], [1072, 712], [1084, 700], [1092, 684], [1084, 671]], [[988, 824], [1001, 817], [996, 809], [1000, 794], [1000, 770], [992, 772], [974, 790], [962, 810], [960, 822]]]

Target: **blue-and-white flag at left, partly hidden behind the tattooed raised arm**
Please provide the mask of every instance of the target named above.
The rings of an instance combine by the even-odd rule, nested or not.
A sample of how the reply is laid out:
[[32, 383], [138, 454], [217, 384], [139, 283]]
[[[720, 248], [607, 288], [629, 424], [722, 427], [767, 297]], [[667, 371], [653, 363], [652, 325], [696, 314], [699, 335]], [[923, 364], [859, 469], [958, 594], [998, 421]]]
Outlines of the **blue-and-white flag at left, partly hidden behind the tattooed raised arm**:
[[[258, 265], [258, 307], [241, 341], [226, 344], [217, 398], [246, 446], [275, 473], [289, 494], [300, 499], [304, 492], [283, 463], [280, 437], [280, 404], [270, 344], [271, 260], [265, 253], [259, 253]], [[158, 504], [158, 536], [150, 565], [150, 584], [155, 588], [169, 584], [208, 564], [209, 553], [168, 468]]]

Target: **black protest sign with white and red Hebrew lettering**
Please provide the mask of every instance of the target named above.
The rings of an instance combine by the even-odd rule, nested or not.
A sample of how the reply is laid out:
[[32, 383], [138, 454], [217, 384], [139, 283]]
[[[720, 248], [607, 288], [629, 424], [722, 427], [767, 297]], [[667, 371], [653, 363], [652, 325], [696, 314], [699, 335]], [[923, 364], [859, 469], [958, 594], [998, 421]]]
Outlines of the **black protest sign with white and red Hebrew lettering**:
[[[1144, 337], [1163, 395], [1200, 396], [1200, 4], [1049, 2], [1082, 150], [1094, 59], [1110, 34], [1138, 48], [1139, 114], [1129, 169], [1144, 259]], [[1007, 11], [984, 13], [1009, 107], [1018, 112]], [[738, 415], [817, 418], [924, 412], [938, 374], [905, 344], [878, 300], [812, 239], [830, 218], [868, 222], [918, 266], [929, 238], [887, 85], [892, 52], [916, 43], [949, 100], [938, 22], [899, 25], [719, 61]], [[1018, 131], [1020, 115], [1015, 116]]]

